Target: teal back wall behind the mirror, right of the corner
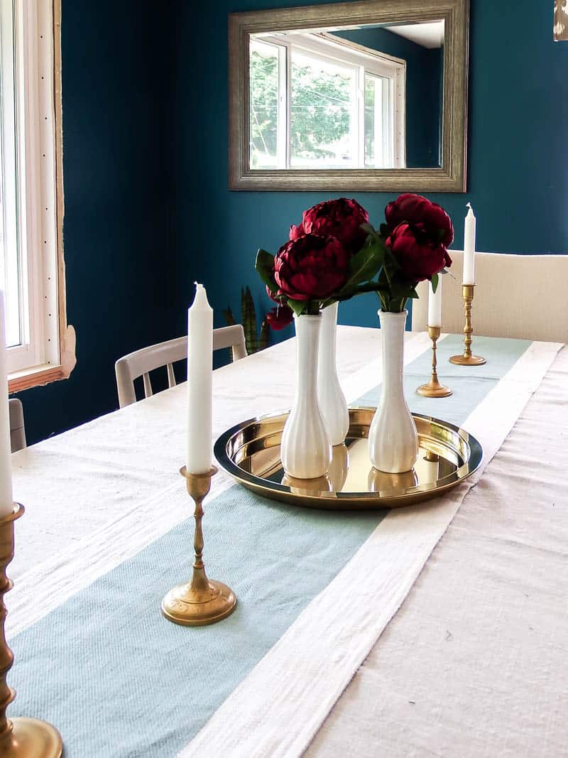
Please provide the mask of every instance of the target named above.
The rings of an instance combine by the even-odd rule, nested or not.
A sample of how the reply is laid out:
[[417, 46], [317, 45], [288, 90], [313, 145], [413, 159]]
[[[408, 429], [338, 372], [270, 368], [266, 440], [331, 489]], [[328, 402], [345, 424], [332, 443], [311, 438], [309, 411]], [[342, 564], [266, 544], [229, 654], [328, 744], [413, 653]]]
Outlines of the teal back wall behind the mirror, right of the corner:
[[[218, 0], [176, 13], [173, 70], [175, 118], [173, 228], [180, 280], [208, 285], [217, 311], [237, 305], [241, 283], [262, 287], [252, 266], [257, 247], [276, 251], [304, 208], [331, 193], [238, 193], [227, 189], [227, 53], [229, 11], [298, 5], [297, 0]], [[478, 249], [566, 252], [568, 249], [568, 44], [552, 42], [552, 3], [472, 0], [469, 188], [432, 194], [454, 219], [456, 246], [470, 200], [478, 218]], [[342, 193], [335, 193], [339, 196]], [[367, 207], [376, 224], [396, 193], [343, 193]], [[189, 293], [177, 292], [172, 318], [183, 327]], [[267, 303], [265, 302], [265, 305]], [[376, 297], [340, 309], [347, 324], [376, 324]]]

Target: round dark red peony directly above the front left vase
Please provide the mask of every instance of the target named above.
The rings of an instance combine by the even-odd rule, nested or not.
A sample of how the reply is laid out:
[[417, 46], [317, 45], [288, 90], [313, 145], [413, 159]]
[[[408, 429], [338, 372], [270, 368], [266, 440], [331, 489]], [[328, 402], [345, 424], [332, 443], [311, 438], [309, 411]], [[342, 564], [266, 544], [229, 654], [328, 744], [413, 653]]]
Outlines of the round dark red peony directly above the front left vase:
[[349, 255], [333, 236], [305, 234], [282, 245], [274, 258], [279, 295], [293, 300], [324, 299], [341, 290]]

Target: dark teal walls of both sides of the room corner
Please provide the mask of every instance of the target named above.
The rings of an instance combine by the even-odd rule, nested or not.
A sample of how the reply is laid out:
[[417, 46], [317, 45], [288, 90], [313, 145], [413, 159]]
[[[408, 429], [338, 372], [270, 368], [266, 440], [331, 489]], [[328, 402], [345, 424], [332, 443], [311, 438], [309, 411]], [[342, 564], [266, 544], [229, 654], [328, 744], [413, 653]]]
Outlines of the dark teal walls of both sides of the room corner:
[[[195, 279], [217, 325], [226, 305], [238, 312], [242, 284], [269, 307], [252, 270], [257, 248], [276, 251], [301, 211], [330, 193], [229, 192], [224, 40], [229, 11], [284, 5], [298, 0], [197, 10], [189, 0], [64, 0], [64, 239], [77, 366], [68, 381], [21, 393], [30, 440], [115, 408], [115, 359], [183, 334]], [[479, 249], [566, 252], [568, 44], [552, 42], [551, 2], [471, 5], [469, 192], [431, 198], [454, 218], [457, 246], [469, 199]], [[377, 224], [396, 196], [346, 194]], [[356, 299], [340, 320], [376, 325], [377, 305], [374, 295]]]

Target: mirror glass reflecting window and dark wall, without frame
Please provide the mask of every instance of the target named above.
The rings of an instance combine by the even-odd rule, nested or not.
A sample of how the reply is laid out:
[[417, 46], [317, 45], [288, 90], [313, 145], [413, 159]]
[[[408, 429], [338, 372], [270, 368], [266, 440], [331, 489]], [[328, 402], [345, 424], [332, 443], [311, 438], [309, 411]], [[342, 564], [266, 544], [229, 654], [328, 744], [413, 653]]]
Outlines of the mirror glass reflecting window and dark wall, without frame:
[[445, 23], [251, 34], [251, 169], [439, 168]]

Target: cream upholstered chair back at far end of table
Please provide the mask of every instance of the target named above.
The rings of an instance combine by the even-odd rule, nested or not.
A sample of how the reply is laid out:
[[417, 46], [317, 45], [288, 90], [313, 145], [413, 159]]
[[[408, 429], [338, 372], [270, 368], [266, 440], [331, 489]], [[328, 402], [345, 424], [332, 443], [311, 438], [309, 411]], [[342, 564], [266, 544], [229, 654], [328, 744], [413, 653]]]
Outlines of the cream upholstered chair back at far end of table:
[[[451, 273], [442, 290], [442, 331], [463, 330], [463, 252], [450, 250]], [[473, 335], [568, 343], [568, 255], [476, 252]], [[426, 330], [428, 282], [412, 302], [412, 330]]]

